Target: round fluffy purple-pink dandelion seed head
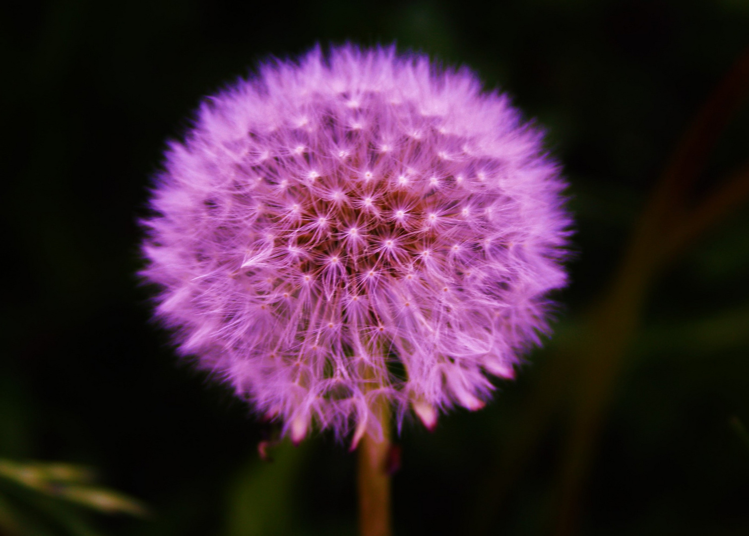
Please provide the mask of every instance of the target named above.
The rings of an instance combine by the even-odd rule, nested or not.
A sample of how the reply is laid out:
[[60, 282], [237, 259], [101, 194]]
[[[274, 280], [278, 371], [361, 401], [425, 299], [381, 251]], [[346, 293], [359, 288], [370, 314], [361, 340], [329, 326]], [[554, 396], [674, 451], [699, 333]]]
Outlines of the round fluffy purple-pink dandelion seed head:
[[394, 47], [270, 61], [171, 142], [142, 276], [179, 352], [294, 442], [484, 406], [548, 330], [570, 223], [542, 133]]

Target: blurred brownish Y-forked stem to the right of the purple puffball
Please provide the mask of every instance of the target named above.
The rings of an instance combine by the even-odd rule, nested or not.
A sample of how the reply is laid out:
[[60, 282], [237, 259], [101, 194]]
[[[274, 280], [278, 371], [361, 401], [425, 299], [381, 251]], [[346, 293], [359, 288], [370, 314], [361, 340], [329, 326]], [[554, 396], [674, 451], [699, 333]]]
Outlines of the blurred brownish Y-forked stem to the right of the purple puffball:
[[575, 352], [577, 381], [571, 391], [571, 424], [560, 473], [558, 536], [577, 532], [580, 498], [595, 442], [655, 277], [749, 196], [749, 163], [745, 163], [696, 206], [690, 206], [709, 155], [748, 92], [749, 49], [733, 64], [680, 140], [640, 218], [621, 268], [604, 298], [593, 307], [587, 322], [589, 337], [580, 341]]

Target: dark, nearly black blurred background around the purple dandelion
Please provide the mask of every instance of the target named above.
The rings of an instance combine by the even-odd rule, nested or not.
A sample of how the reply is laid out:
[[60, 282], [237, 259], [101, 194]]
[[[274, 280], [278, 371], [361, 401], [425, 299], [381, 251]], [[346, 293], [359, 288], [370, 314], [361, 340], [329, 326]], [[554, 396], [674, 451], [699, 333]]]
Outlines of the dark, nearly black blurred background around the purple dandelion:
[[509, 93], [577, 220], [555, 335], [518, 380], [405, 424], [396, 535], [749, 534], [749, 1], [11, 4], [0, 459], [94, 468], [151, 514], [37, 508], [0, 478], [0, 533], [356, 534], [346, 445], [261, 462], [261, 425], [178, 362], [134, 275], [149, 178], [201, 98], [354, 40]]

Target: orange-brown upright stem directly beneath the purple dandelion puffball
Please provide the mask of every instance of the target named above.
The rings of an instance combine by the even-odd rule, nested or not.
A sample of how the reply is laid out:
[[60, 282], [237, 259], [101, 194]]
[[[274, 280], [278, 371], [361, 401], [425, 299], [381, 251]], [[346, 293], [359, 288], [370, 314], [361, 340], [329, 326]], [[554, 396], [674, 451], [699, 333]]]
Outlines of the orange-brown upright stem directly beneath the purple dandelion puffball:
[[391, 536], [389, 419], [383, 412], [380, 441], [366, 433], [359, 451], [359, 532], [361, 536]]

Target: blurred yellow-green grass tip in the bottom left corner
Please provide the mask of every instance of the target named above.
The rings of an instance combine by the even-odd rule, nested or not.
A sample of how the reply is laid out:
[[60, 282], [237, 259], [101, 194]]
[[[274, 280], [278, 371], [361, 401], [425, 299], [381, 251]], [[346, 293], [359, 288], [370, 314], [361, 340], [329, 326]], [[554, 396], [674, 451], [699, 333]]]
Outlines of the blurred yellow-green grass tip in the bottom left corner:
[[[148, 517], [136, 499], [92, 485], [94, 472], [70, 463], [19, 463], [0, 459], [0, 534], [73, 536], [96, 532], [73, 505], [103, 514]], [[53, 528], [54, 527], [54, 528]]]

